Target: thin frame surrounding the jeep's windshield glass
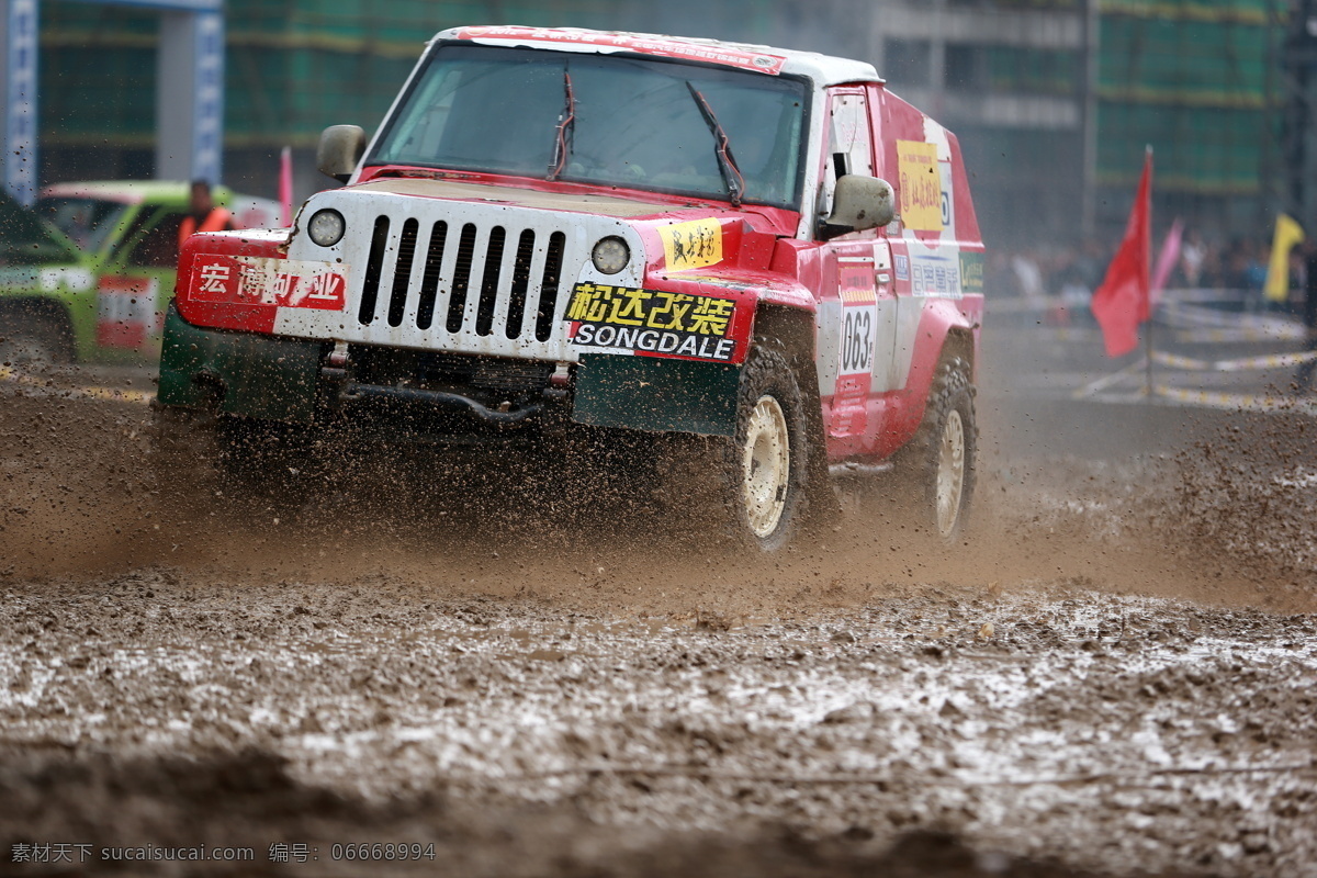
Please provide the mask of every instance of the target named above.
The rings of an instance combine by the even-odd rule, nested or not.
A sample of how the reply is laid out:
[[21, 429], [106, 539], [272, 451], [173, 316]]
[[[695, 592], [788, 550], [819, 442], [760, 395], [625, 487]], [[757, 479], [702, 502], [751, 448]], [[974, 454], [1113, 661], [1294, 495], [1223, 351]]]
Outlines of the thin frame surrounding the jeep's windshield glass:
[[[789, 211], [795, 211], [795, 212], [799, 212], [802, 209], [805, 195], [806, 195], [806, 190], [807, 190], [807, 186], [806, 186], [807, 184], [807, 178], [809, 178], [809, 167], [807, 167], [807, 165], [809, 165], [809, 155], [810, 155], [810, 141], [811, 141], [811, 137], [813, 137], [813, 109], [814, 109], [814, 101], [815, 101], [815, 88], [814, 88], [813, 82], [810, 80], [810, 78], [802, 76], [802, 75], [794, 75], [794, 74], [778, 74], [778, 75], [769, 76], [768, 74], [763, 74], [763, 72], [732, 68], [732, 67], [728, 67], [727, 65], [718, 65], [718, 63], [709, 63], [709, 62], [699, 62], [699, 61], [686, 61], [686, 59], [657, 58], [655, 55], [648, 55], [648, 54], [643, 54], [643, 53], [632, 53], [632, 51], [608, 51], [608, 53], [570, 51], [570, 50], [566, 50], [566, 49], [536, 49], [536, 47], [527, 47], [527, 46], [489, 46], [489, 45], [485, 45], [485, 43], [475, 43], [475, 42], [471, 42], [469, 39], [444, 39], [444, 41], [439, 41], [439, 42], [433, 43], [431, 46], [429, 51], [427, 51], [421, 57], [420, 63], [417, 63], [416, 68], [412, 71], [412, 74], [408, 78], [407, 84], [404, 86], [403, 91], [398, 95], [398, 97], [394, 101], [392, 107], [390, 107], [389, 115], [385, 117], [385, 122], [381, 125], [381, 128], [377, 132], [375, 137], [371, 140], [369, 149], [366, 150], [366, 155], [363, 157], [363, 159], [361, 162], [361, 170], [358, 172], [358, 176], [373, 176], [373, 175], [370, 175], [367, 172], [367, 168], [378, 168], [378, 167], [416, 167], [416, 168], [425, 168], [428, 171], [435, 171], [435, 172], [454, 171], [454, 172], [460, 172], [462, 175], [487, 175], [487, 176], [499, 176], [499, 178], [508, 178], [508, 179], [523, 179], [523, 180], [532, 180], [532, 182], [543, 183], [543, 184], [548, 184], [548, 186], [564, 184], [564, 186], [569, 186], [569, 187], [573, 187], [573, 188], [576, 188], [576, 187], [583, 187], [583, 188], [591, 188], [591, 190], [607, 188], [607, 190], [614, 191], [614, 192], [630, 190], [630, 191], [636, 191], [636, 192], [657, 194], [657, 195], [673, 196], [673, 197], [687, 199], [687, 200], [698, 200], [698, 201], [718, 201], [718, 203], [720, 203], [720, 201], [728, 201], [728, 203], [734, 201], [732, 194], [727, 192], [727, 191], [718, 191], [718, 192], [715, 192], [715, 191], [710, 191], [710, 190], [691, 190], [691, 188], [682, 188], [682, 187], [655, 186], [652, 183], [640, 182], [640, 180], [623, 183], [623, 182], [614, 180], [614, 179], [601, 180], [601, 179], [590, 179], [590, 178], [578, 178], [578, 176], [574, 176], [574, 175], [565, 175], [565, 174], [560, 174], [556, 178], [551, 179], [551, 172], [549, 172], [548, 167], [545, 167], [545, 170], [544, 170], [543, 174], [527, 174], [525, 171], [491, 170], [487, 166], [485, 166], [485, 167], [477, 167], [477, 166], [464, 165], [464, 163], [460, 163], [460, 162], [446, 162], [446, 163], [439, 165], [439, 163], [423, 163], [423, 162], [415, 162], [415, 161], [398, 162], [398, 161], [392, 161], [392, 159], [387, 159], [387, 158], [381, 158], [379, 154], [381, 154], [382, 147], [387, 143], [387, 141], [390, 138], [390, 134], [394, 132], [394, 129], [399, 124], [402, 124], [402, 120], [404, 117], [406, 109], [411, 104], [412, 96], [420, 88], [423, 88], [424, 84], [427, 83], [427, 76], [425, 76], [427, 71], [431, 68], [431, 66], [433, 63], [436, 63], [436, 59], [441, 58], [441, 53], [444, 51], [444, 49], [458, 47], [458, 46], [460, 47], [466, 47], [466, 49], [479, 49], [482, 53], [483, 51], [489, 51], [489, 53], [508, 53], [510, 55], [512, 55], [512, 54], [525, 55], [528, 53], [533, 53], [533, 54], [537, 54], [537, 55], [565, 57], [564, 59], [565, 59], [565, 62], [568, 65], [570, 65], [570, 62], [572, 62], [573, 58], [589, 58], [589, 59], [619, 58], [619, 59], [626, 59], [626, 61], [631, 61], [631, 62], [639, 62], [639, 63], [643, 63], [643, 65], [647, 65], [647, 66], [672, 65], [672, 66], [676, 66], [676, 67], [698, 68], [698, 70], [712, 70], [712, 71], [718, 71], [719, 74], [723, 74], [723, 75], [732, 74], [732, 75], [738, 75], [738, 76], [765, 76], [765, 78], [769, 78], [769, 79], [789, 80], [789, 82], [794, 83], [795, 87], [799, 88], [799, 101], [801, 101], [799, 128], [798, 128], [798, 136], [797, 136], [797, 138], [798, 138], [798, 143], [797, 143], [798, 154], [797, 154], [797, 157], [794, 159], [795, 161], [795, 174], [794, 174], [794, 180], [792, 180], [792, 192], [790, 192], [790, 195], [785, 200], [781, 200], [781, 199], [761, 199], [761, 197], [755, 197], [755, 194], [749, 192], [747, 197], [741, 199], [741, 201], [745, 205], [772, 207], [772, 208], [781, 208], [781, 209], [789, 209]], [[552, 134], [553, 134], [553, 132], [549, 130], [547, 133], [547, 137], [552, 137]], [[710, 133], [710, 142], [709, 142], [709, 150], [710, 150], [710, 153], [714, 153], [715, 146], [716, 146], [716, 138], [715, 138], [715, 134], [711, 132]], [[732, 147], [732, 150], [736, 149], [735, 140], [731, 141], [731, 147]]]

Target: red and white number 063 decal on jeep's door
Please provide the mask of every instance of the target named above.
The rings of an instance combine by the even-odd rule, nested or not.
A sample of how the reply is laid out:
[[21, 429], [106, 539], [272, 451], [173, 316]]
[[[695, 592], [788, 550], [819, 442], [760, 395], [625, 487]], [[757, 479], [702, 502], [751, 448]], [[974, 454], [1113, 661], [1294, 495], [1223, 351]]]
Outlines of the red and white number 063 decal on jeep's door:
[[839, 261], [842, 297], [840, 363], [832, 399], [832, 436], [855, 436], [868, 424], [869, 390], [873, 384], [873, 349], [877, 342], [877, 299], [871, 259]]

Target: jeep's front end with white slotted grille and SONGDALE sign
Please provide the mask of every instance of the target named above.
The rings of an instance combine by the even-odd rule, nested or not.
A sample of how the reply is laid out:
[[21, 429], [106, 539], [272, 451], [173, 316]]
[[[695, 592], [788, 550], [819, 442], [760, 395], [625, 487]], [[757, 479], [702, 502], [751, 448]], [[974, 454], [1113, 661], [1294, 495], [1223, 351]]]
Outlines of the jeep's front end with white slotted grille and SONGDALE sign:
[[[647, 287], [645, 238], [652, 251], [673, 225], [616, 215], [656, 207], [564, 200], [386, 179], [312, 197], [291, 234], [198, 236], [159, 401], [327, 429], [395, 416], [398, 440], [572, 423], [730, 434], [753, 296]], [[716, 221], [705, 237], [722, 244]]]

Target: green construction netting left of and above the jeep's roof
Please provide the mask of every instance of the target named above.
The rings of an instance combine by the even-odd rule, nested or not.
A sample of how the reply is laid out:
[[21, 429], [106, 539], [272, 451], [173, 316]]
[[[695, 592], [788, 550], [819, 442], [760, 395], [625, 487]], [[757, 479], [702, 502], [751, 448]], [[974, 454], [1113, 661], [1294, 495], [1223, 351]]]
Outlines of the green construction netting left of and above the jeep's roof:
[[[766, 39], [780, 12], [761, 0], [726, 0], [685, 17], [685, 33]], [[373, 129], [425, 41], [445, 28], [570, 22], [653, 30], [672, 17], [672, 9], [612, 0], [229, 0], [225, 142], [309, 145], [327, 125]], [[158, 26], [155, 13], [138, 8], [46, 0], [42, 141], [151, 143]]]

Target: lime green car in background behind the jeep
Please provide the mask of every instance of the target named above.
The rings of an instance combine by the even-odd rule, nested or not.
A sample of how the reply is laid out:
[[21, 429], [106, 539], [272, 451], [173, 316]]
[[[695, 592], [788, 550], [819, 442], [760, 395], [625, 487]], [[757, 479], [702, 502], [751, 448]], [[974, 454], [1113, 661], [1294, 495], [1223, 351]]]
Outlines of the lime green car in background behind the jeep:
[[[34, 211], [0, 194], [0, 366], [159, 357], [188, 194], [186, 182], [59, 183]], [[277, 201], [213, 197], [237, 228], [278, 225]]]

